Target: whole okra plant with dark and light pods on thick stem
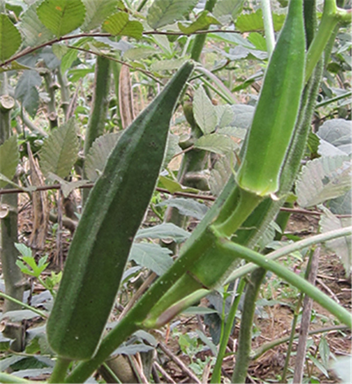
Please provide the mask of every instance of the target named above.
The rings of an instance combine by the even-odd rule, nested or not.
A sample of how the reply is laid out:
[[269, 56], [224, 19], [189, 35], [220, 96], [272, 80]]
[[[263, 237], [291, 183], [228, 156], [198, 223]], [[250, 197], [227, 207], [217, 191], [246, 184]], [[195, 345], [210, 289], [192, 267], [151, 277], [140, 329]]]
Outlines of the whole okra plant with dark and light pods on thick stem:
[[[324, 51], [338, 23], [349, 19], [348, 12], [337, 8], [335, 1], [325, 0], [320, 26], [315, 30], [312, 23], [316, 20], [315, 2], [313, 10], [309, 9], [308, 1], [289, 1], [285, 23], [265, 70], [251, 127], [227, 184], [182, 245], [169, 270], [106, 332], [133, 239], [162, 167], [170, 119], [198, 64], [186, 61], [125, 129], [85, 201], [47, 320], [47, 340], [57, 354], [49, 383], [84, 383], [135, 331], [167, 324], [213, 290], [250, 272], [243, 267], [243, 260], [260, 267], [255, 269], [259, 276], [257, 290], [266, 271], [272, 271], [351, 327], [351, 314], [347, 310], [275, 261], [285, 250], [264, 256], [254, 249], [258, 237], [275, 219], [291, 191], [306, 148]], [[74, 13], [74, 6], [79, 8], [80, 2], [71, 0], [69, 12]], [[161, 2], [155, 0], [154, 6], [162, 8]], [[51, 3], [52, 0], [45, 0], [40, 4], [39, 17]], [[213, 9], [214, 3], [207, 1], [207, 11]], [[63, 0], [55, 4], [60, 9], [66, 5]], [[151, 17], [147, 21], [158, 27]], [[133, 26], [137, 28], [133, 22], [136, 21], [127, 18], [131, 30]], [[107, 18], [103, 25], [111, 32], [116, 27], [116, 18]], [[49, 24], [47, 27], [50, 29]], [[122, 30], [119, 30], [121, 34]], [[60, 33], [57, 36], [65, 32]], [[204, 43], [204, 39], [198, 40]], [[193, 56], [195, 60], [198, 58], [199, 55]], [[107, 64], [106, 59], [103, 62]], [[90, 144], [86, 143], [86, 147]], [[350, 231], [350, 228], [336, 231], [325, 238], [348, 235]], [[244, 280], [239, 291], [243, 287]], [[251, 319], [243, 321], [251, 326]], [[243, 340], [242, 337], [241, 345], [245, 345]], [[245, 347], [240, 348], [244, 352], [237, 357], [241, 369], [235, 368], [234, 382], [245, 380], [243, 372], [248, 365], [249, 353]], [[220, 381], [219, 372], [218, 367], [212, 382]], [[17, 382], [7, 375], [2, 380]]]

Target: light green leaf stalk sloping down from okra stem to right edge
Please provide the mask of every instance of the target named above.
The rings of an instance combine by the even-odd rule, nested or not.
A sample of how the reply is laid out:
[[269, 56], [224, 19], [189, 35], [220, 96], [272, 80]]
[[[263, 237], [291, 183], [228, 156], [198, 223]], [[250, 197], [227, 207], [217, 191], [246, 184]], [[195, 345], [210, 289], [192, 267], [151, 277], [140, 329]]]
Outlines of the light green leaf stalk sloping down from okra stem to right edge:
[[233, 243], [227, 239], [222, 239], [222, 248], [224, 252], [233, 251], [233, 256], [243, 258], [246, 261], [251, 261], [257, 264], [258, 266], [273, 272], [277, 276], [283, 278], [294, 287], [298, 288], [306, 295], [311, 297], [322, 307], [327, 309], [331, 314], [333, 314], [338, 320], [352, 327], [352, 317], [351, 313], [345, 308], [341, 307], [334, 300], [332, 300], [328, 295], [324, 294], [314, 285], [308, 283], [303, 277], [298, 276], [294, 272], [286, 269], [284, 266], [279, 264], [276, 261], [269, 259], [266, 256], [259, 254], [258, 252], [252, 251], [246, 247], [243, 247], [240, 244]]

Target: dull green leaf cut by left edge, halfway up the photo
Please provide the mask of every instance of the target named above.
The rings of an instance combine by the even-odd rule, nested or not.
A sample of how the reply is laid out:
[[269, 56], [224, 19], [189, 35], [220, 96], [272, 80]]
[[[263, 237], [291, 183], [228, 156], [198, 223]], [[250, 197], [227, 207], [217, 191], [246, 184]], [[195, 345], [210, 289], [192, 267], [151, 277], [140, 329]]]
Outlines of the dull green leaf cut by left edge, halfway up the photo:
[[[12, 179], [16, 173], [19, 162], [19, 150], [17, 145], [17, 137], [10, 136], [0, 145], [0, 173], [8, 179]], [[0, 188], [8, 183], [0, 181]]]

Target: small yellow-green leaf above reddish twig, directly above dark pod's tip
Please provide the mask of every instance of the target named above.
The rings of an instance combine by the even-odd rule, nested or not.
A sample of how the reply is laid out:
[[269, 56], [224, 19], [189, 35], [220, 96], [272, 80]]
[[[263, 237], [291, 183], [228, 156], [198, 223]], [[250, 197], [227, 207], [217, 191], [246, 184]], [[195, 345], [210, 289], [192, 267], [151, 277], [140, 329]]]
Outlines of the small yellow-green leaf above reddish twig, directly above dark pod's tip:
[[103, 28], [113, 36], [130, 36], [142, 38], [143, 25], [139, 21], [129, 20], [126, 12], [117, 12], [103, 22]]

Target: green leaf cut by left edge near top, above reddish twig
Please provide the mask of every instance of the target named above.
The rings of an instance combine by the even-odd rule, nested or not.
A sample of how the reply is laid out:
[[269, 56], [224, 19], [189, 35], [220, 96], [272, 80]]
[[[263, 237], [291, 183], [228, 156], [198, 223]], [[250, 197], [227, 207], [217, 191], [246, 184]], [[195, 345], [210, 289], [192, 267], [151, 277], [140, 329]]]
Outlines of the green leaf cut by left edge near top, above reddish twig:
[[21, 34], [11, 20], [0, 14], [0, 61], [10, 58], [22, 43]]

